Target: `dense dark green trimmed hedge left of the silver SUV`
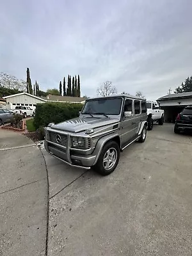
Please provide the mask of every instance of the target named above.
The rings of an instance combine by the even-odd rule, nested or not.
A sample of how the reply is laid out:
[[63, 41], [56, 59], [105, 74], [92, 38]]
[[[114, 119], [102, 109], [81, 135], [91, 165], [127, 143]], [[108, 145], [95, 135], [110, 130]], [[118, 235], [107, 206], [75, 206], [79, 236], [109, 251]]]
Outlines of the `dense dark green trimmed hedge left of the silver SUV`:
[[83, 104], [79, 103], [53, 103], [47, 102], [36, 105], [34, 125], [35, 128], [45, 127], [49, 123], [58, 124], [79, 116]]

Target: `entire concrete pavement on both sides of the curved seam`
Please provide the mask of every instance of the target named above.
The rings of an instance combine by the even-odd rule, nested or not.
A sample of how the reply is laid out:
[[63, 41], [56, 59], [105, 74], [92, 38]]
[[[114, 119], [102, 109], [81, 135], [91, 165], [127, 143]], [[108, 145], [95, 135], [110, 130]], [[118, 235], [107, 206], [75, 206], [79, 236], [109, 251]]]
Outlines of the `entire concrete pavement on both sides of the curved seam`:
[[192, 255], [191, 136], [154, 125], [108, 177], [41, 150], [0, 131], [0, 255]]

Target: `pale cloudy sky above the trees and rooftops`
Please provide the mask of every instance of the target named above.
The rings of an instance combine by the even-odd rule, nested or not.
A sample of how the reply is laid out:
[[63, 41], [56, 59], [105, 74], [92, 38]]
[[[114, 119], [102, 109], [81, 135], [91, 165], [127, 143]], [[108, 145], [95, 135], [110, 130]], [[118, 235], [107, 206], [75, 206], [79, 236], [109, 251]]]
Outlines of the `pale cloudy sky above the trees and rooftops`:
[[[55, 2], [55, 3], [54, 3]], [[166, 95], [192, 76], [191, 0], [2, 0], [0, 72], [41, 90], [81, 76], [81, 92]]]

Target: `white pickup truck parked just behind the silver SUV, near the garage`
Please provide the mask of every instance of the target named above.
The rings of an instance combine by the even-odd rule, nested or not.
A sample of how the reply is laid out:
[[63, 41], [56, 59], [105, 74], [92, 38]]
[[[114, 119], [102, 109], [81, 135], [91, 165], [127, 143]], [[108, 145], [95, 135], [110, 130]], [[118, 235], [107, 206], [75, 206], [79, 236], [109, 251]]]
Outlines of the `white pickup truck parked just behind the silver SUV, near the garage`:
[[164, 123], [164, 110], [159, 109], [159, 105], [154, 102], [147, 102], [147, 122], [148, 130], [151, 131], [154, 126], [154, 122], [158, 122], [159, 125]]

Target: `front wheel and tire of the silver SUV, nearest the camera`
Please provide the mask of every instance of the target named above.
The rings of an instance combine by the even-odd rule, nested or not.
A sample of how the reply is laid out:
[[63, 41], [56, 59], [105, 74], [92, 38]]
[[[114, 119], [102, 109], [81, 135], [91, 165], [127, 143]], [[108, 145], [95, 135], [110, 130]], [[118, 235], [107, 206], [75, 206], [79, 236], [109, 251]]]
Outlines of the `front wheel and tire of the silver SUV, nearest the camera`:
[[[113, 154], [113, 156], [112, 155], [110, 156], [110, 154]], [[109, 157], [109, 159], [107, 159], [107, 157]], [[103, 176], [109, 175], [115, 170], [118, 164], [119, 158], [120, 158], [119, 145], [115, 141], [109, 141], [102, 148], [99, 159], [97, 160], [97, 163], [93, 166], [93, 169]]]

